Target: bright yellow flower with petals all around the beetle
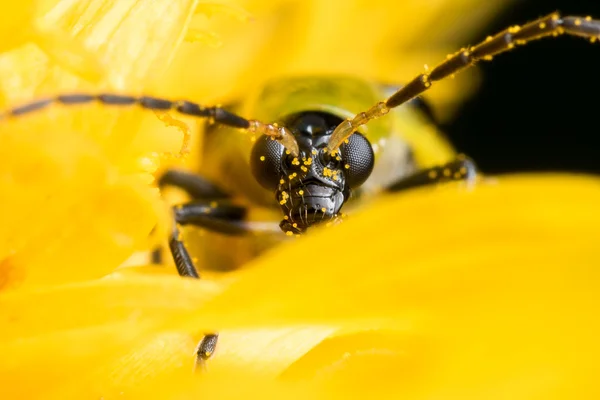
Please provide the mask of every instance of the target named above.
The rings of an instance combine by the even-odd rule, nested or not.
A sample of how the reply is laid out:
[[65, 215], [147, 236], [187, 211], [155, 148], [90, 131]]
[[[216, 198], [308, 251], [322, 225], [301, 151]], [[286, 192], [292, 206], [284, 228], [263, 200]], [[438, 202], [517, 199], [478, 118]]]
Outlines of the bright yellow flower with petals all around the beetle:
[[[421, 68], [411, 57], [454, 49], [436, 43], [401, 64], [404, 52], [383, 44], [421, 44], [429, 28], [440, 35], [439, 13], [472, 5], [407, 2], [396, 19], [372, 2], [248, 1], [254, 19], [243, 22], [237, 7], [197, 3], [36, 3], [20, 23], [79, 44], [15, 36], [0, 55], [2, 104], [65, 90], [211, 103], [313, 67], [402, 80]], [[57, 63], [79, 46], [82, 58]], [[598, 397], [598, 179], [387, 196], [216, 281], [160, 267], [109, 274], [167, 226], [153, 173], [198, 130], [159, 117], [91, 105], [2, 121], [1, 398]], [[215, 331], [216, 354], [192, 374], [195, 347]]]

